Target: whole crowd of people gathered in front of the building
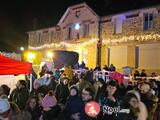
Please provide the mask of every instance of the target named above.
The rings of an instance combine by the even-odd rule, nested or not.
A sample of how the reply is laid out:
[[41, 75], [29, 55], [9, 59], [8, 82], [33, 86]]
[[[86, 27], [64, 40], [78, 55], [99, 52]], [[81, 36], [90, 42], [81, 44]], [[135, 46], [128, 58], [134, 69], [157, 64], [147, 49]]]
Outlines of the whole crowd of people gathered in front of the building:
[[[52, 72], [45, 65], [40, 78], [34, 73], [31, 92], [27, 79], [19, 80], [11, 92], [7, 85], [1, 85], [0, 120], [160, 120], [158, 81], [137, 79], [136, 85], [128, 86], [116, 80], [106, 83], [102, 78], [94, 80], [84, 63], [81, 68], [77, 78], [69, 66]], [[116, 70], [113, 65], [103, 69]], [[85, 112], [90, 101], [100, 106], [96, 117]]]

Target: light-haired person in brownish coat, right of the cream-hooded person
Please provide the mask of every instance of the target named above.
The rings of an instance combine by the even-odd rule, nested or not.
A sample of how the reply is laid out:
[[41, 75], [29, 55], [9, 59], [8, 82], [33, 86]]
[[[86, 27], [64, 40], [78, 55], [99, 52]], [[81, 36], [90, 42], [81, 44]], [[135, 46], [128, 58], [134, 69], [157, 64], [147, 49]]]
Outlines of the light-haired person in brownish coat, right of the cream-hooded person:
[[154, 113], [157, 109], [158, 97], [155, 96], [149, 83], [144, 82], [140, 86], [141, 100], [146, 105], [148, 110], [148, 120], [153, 120]]

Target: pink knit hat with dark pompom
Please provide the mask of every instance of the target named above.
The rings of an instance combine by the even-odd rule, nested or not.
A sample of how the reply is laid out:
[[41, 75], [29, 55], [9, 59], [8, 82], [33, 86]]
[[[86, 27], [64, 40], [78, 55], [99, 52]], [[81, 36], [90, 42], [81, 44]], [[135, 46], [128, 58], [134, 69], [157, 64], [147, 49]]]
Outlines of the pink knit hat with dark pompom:
[[52, 91], [49, 91], [48, 94], [42, 100], [42, 107], [51, 108], [56, 106], [56, 104], [57, 104], [56, 97], [53, 95]]

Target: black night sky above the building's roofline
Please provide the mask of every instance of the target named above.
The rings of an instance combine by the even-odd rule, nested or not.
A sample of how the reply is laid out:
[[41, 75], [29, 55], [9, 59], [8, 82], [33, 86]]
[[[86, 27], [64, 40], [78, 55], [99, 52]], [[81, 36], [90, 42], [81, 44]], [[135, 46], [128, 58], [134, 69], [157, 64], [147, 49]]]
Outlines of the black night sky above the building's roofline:
[[56, 25], [68, 6], [86, 2], [97, 13], [112, 14], [148, 5], [160, 5], [160, 0], [2, 0], [0, 3], [0, 51], [18, 51], [27, 46], [25, 32]]

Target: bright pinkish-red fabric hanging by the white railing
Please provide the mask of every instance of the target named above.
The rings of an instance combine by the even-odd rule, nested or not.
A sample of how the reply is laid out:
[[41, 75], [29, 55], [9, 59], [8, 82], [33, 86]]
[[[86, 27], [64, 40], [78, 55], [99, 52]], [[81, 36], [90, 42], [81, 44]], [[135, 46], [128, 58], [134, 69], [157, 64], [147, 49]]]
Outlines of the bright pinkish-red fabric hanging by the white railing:
[[118, 72], [110, 72], [109, 77], [111, 80], [117, 80], [119, 85], [123, 83], [124, 75]]

